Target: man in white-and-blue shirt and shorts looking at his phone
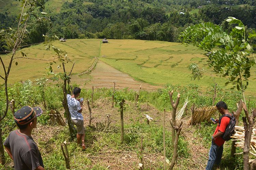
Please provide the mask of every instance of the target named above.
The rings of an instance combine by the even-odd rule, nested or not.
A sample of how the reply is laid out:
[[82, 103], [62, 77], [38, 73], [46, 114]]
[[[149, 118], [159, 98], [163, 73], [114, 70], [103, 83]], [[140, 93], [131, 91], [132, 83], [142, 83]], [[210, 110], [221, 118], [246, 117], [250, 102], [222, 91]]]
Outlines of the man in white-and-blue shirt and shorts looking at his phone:
[[74, 125], [76, 125], [77, 128], [77, 143], [80, 144], [82, 140], [82, 149], [85, 149], [85, 144], [84, 144], [84, 118], [82, 115], [83, 111], [83, 101], [80, 102], [80, 99], [76, 99], [79, 97], [81, 92], [81, 88], [75, 87], [73, 89], [73, 95], [67, 95], [67, 102], [68, 102], [68, 107], [69, 107], [69, 112], [71, 115], [71, 120]]

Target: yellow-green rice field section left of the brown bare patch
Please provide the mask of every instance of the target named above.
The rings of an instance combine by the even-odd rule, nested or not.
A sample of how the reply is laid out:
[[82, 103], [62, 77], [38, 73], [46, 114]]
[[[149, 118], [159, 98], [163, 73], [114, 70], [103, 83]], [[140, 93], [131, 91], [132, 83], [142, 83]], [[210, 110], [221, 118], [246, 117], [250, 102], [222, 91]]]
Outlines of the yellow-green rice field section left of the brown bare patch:
[[[68, 39], [67, 42], [60, 43], [55, 41], [53, 46], [65, 50], [68, 52], [68, 57], [75, 61], [75, 66], [72, 71], [73, 74], [78, 74], [86, 71], [94, 62], [95, 58], [99, 56], [99, 39]], [[24, 48], [21, 50], [27, 54], [28, 58], [36, 59], [29, 60], [24, 58], [16, 59], [15, 62], [18, 62], [18, 65], [12, 65], [11, 73], [9, 76], [9, 82], [14, 83], [17, 81], [24, 81], [30, 79], [34, 81], [47, 72], [45, 68], [49, 67], [49, 62], [52, 62], [52, 59], [55, 58], [55, 52], [51, 49], [47, 51], [45, 49], [45, 44], [39, 44], [31, 46], [29, 48]], [[4, 63], [7, 64], [9, 61], [9, 55], [2, 55]], [[18, 51], [15, 57], [22, 57], [20, 51]], [[42, 61], [37, 59], [49, 60]], [[57, 64], [52, 65], [55, 72], [62, 71], [57, 69]], [[70, 70], [72, 63], [66, 65], [66, 69]], [[0, 83], [3, 83], [1, 80]]]

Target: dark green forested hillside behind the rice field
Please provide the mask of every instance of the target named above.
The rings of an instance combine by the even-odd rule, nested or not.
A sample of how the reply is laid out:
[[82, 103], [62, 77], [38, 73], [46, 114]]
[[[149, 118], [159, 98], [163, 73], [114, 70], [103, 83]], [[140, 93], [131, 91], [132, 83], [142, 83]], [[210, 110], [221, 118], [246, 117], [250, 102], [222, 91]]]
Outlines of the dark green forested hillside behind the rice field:
[[[0, 28], [15, 27], [21, 11], [17, 0], [0, 3]], [[42, 34], [65, 38], [144, 39], [176, 42], [190, 24], [223, 22], [236, 17], [256, 28], [255, 0], [48, 0], [45, 11], [51, 18], [29, 26], [25, 44], [40, 43]], [[41, 10], [38, 9], [38, 15]], [[2, 49], [7, 50], [7, 46]]]

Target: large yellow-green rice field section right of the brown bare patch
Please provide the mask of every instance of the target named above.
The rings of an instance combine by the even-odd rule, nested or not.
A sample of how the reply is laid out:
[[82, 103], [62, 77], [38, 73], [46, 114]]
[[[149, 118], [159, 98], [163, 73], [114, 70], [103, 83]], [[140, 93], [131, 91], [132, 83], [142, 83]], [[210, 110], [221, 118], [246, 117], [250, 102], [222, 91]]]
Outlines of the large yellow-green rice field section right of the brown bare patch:
[[[204, 52], [192, 45], [144, 40], [110, 40], [109, 42], [101, 45], [101, 55], [104, 56], [101, 60], [129, 74], [135, 80], [161, 86], [197, 84], [203, 90], [215, 82], [224, 86], [227, 80], [212, 73], [211, 68], [208, 68]], [[197, 63], [200, 68], [207, 70], [201, 80], [191, 81], [191, 71], [188, 70], [191, 63]], [[250, 96], [256, 96], [256, 86], [253, 83], [256, 78], [255, 71], [256, 67], [253, 67], [251, 82], [246, 91]]]

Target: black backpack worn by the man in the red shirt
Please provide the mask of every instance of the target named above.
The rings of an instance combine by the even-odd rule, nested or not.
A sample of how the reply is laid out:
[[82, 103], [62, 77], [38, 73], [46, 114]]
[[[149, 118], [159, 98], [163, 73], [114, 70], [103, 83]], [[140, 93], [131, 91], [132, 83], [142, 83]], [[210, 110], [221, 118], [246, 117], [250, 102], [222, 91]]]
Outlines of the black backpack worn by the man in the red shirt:
[[230, 115], [228, 115], [228, 114], [222, 115], [222, 116], [219, 118], [219, 125], [221, 125], [221, 119], [222, 119], [223, 117], [225, 117], [225, 116], [226, 116], [226, 117], [229, 117], [229, 118], [230, 118], [230, 121], [229, 121], [229, 124], [227, 125], [227, 128], [226, 128], [226, 130], [225, 130], [224, 135], [222, 136], [222, 139], [228, 141], [228, 140], [231, 139], [230, 136], [232, 136], [232, 135], [234, 134], [234, 129], [235, 129], [235, 126], [236, 126], [236, 118], [235, 118], [233, 115], [232, 115], [232, 116], [230, 116]]

